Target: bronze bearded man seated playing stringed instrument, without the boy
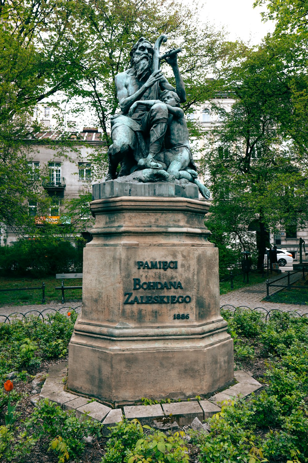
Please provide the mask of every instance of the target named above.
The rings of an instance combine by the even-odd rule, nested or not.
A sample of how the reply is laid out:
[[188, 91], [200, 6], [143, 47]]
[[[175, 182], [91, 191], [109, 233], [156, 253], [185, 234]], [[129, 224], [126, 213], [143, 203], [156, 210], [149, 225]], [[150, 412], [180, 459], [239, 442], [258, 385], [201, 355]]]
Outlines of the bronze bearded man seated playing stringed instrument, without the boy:
[[[152, 98], [152, 88], [156, 82], [159, 92], [171, 90], [178, 94], [180, 102], [186, 101], [176, 54], [166, 58], [175, 75], [175, 89], [160, 69], [152, 71], [153, 53], [150, 42], [141, 37], [130, 52], [129, 69], [115, 76], [121, 112], [110, 118], [113, 144], [108, 150], [109, 170], [105, 180], [116, 178], [119, 163], [119, 176], [129, 175], [137, 169], [138, 161], [142, 158], [146, 158], [144, 167], [161, 167], [154, 158], [162, 149], [167, 131], [168, 108], [162, 101], [154, 101]], [[150, 101], [151, 105], [147, 104]]]

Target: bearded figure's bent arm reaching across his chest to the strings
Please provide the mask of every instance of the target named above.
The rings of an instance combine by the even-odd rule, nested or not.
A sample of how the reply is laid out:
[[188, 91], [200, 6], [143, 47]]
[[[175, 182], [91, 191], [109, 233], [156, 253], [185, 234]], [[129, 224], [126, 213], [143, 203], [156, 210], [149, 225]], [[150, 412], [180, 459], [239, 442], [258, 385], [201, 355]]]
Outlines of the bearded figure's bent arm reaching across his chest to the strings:
[[148, 80], [132, 95], [128, 94], [126, 87], [127, 76], [125, 73], [121, 73], [115, 76], [115, 87], [117, 90], [118, 100], [120, 108], [123, 114], [127, 114], [130, 107], [135, 101], [139, 101], [140, 98], [145, 94], [146, 90], [150, 88], [155, 82], [161, 81], [163, 78], [162, 71], [158, 69], [150, 75]]

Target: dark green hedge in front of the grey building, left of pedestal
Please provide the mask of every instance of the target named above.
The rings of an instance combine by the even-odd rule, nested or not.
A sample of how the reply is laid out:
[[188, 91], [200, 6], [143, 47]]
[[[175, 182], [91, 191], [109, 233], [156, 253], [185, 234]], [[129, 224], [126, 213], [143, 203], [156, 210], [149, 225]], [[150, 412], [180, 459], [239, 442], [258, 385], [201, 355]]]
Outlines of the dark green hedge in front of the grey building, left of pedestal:
[[85, 240], [74, 247], [69, 241], [21, 239], [12, 246], [0, 247], [0, 275], [33, 277], [62, 272], [82, 272]]

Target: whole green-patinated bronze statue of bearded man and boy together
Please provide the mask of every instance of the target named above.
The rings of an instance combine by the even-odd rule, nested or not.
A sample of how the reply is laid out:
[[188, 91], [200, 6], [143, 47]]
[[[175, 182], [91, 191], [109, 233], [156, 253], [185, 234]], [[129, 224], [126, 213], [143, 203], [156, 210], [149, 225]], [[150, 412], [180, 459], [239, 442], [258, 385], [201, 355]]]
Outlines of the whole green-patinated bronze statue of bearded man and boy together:
[[[195, 183], [208, 199], [210, 192], [197, 179], [197, 169], [189, 148], [186, 119], [180, 103], [186, 101], [183, 79], [172, 49], [160, 56], [159, 48], [167, 40], [157, 39], [154, 49], [141, 37], [130, 53], [130, 68], [115, 76], [115, 86], [121, 108], [111, 116], [109, 170], [106, 180], [140, 172], [140, 181], [188, 181]], [[165, 59], [175, 75], [176, 89], [159, 69]]]

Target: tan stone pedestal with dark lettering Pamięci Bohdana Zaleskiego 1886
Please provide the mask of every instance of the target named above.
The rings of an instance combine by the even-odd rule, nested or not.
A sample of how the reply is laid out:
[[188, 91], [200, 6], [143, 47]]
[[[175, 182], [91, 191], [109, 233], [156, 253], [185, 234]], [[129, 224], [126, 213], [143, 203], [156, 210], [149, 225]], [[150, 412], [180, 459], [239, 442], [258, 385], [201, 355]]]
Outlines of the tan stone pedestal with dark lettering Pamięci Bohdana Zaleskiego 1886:
[[192, 199], [195, 187], [154, 185], [109, 181], [93, 190], [67, 384], [108, 402], [185, 399], [233, 380], [209, 206]]

